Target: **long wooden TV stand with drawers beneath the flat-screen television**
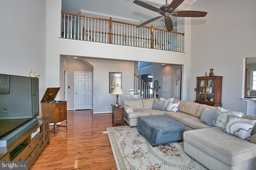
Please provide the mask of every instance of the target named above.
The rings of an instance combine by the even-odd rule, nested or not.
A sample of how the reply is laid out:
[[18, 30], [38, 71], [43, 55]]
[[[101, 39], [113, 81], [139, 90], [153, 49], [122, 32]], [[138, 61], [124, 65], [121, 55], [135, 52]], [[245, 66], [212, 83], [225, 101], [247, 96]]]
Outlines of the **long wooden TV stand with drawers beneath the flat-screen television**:
[[38, 123], [6, 147], [0, 148], [0, 161], [28, 162], [28, 168], [47, 144], [50, 144], [50, 117], [38, 117]]

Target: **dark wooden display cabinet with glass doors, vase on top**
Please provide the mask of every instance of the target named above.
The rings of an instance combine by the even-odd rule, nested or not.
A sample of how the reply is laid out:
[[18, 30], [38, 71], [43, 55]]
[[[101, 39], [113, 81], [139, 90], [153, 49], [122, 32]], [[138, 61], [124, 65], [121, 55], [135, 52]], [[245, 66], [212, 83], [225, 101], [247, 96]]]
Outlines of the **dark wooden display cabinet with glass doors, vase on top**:
[[196, 77], [196, 103], [222, 106], [222, 76]]

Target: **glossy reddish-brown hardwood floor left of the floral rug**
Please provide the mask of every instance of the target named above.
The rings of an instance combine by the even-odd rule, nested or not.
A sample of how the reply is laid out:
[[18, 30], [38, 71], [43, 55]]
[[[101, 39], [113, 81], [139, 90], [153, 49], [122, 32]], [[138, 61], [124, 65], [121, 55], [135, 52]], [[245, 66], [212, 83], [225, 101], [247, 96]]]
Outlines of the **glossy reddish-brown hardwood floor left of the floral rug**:
[[114, 126], [111, 115], [92, 114], [91, 110], [68, 111], [68, 130], [58, 127], [57, 135], [50, 132], [50, 144], [30, 170], [116, 170], [108, 133], [102, 133]]

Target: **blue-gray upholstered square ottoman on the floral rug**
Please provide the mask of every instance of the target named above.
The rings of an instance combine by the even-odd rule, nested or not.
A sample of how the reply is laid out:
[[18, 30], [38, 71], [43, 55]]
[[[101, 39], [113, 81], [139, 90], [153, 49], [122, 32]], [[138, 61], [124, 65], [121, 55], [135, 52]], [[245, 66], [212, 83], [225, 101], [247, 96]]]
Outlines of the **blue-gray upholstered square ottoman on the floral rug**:
[[138, 132], [140, 132], [152, 146], [183, 139], [185, 126], [166, 116], [138, 117]]

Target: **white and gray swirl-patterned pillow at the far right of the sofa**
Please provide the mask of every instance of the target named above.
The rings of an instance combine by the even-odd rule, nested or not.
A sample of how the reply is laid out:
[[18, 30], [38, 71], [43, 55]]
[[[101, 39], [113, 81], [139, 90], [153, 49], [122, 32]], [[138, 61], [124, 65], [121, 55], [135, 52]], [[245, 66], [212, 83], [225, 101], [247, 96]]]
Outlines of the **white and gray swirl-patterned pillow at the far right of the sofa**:
[[256, 120], [249, 120], [237, 117], [236, 115], [229, 115], [223, 131], [238, 136], [239, 138], [250, 140], [252, 128], [255, 123]]

